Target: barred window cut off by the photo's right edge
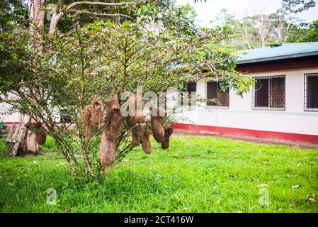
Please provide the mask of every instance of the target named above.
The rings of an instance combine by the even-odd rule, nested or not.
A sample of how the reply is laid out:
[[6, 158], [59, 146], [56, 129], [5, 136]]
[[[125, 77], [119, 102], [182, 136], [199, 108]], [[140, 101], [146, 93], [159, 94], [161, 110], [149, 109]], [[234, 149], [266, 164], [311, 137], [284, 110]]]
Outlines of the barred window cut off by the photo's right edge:
[[318, 73], [305, 74], [305, 111], [318, 111]]

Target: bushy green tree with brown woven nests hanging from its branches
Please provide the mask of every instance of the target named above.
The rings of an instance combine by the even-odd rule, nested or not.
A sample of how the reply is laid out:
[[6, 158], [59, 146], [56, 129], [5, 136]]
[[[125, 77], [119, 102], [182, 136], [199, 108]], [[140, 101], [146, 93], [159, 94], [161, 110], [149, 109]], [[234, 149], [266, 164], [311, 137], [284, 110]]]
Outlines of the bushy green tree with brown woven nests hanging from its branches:
[[[147, 102], [139, 100], [138, 86], [159, 97], [200, 79], [217, 79], [237, 94], [251, 85], [235, 71], [235, 55], [218, 48], [229, 34], [208, 28], [180, 32], [151, 18], [97, 21], [69, 35], [43, 33], [40, 54], [30, 51], [32, 37], [23, 29], [0, 37], [1, 45], [11, 47], [0, 56], [6, 72], [1, 74], [1, 95], [14, 97], [1, 101], [41, 122], [31, 127], [36, 140], [52, 137], [76, 178], [101, 177], [139, 145], [152, 153], [151, 135], [162, 149], [169, 148], [171, 113], [157, 101], [149, 111], [164, 114], [146, 116], [137, 108], [130, 110], [136, 114], [123, 115], [127, 106]], [[121, 99], [127, 91], [131, 95]], [[61, 111], [72, 123], [59, 122]]]

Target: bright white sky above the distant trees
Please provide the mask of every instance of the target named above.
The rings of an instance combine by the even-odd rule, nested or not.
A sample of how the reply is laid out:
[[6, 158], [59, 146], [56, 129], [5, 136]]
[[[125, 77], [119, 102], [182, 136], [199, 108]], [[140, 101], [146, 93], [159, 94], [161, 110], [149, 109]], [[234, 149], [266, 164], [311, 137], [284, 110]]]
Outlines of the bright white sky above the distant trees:
[[[198, 13], [200, 26], [211, 27], [212, 21], [222, 9], [227, 9], [236, 18], [252, 16], [256, 13], [274, 13], [281, 6], [281, 0], [208, 0], [194, 3], [194, 0], [176, 0], [178, 5], [191, 4]], [[307, 23], [318, 20], [318, 2], [314, 8], [298, 14]]]

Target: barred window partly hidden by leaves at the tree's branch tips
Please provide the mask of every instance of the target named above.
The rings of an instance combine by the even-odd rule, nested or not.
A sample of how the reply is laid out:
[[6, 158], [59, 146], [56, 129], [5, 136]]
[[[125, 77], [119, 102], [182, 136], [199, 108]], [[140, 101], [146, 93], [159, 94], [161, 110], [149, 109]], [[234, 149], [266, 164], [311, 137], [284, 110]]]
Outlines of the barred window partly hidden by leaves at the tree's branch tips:
[[207, 102], [207, 106], [229, 107], [229, 90], [223, 92], [217, 82], [208, 82], [207, 99], [217, 99], [217, 102]]

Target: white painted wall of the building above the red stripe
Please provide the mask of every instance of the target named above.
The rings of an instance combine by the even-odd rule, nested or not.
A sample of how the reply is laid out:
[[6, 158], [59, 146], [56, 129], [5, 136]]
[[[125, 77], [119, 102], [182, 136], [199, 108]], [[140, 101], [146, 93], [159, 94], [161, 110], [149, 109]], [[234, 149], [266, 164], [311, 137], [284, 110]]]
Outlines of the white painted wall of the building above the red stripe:
[[[304, 74], [318, 73], [318, 68], [248, 74], [251, 77], [285, 75], [285, 111], [252, 110], [252, 94], [244, 97], [229, 92], [229, 109], [199, 107], [178, 115], [178, 122], [191, 124], [180, 116], [191, 116], [199, 126], [241, 128], [256, 131], [318, 135], [318, 112], [304, 111]], [[206, 95], [206, 83], [198, 82], [197, 93]]]

